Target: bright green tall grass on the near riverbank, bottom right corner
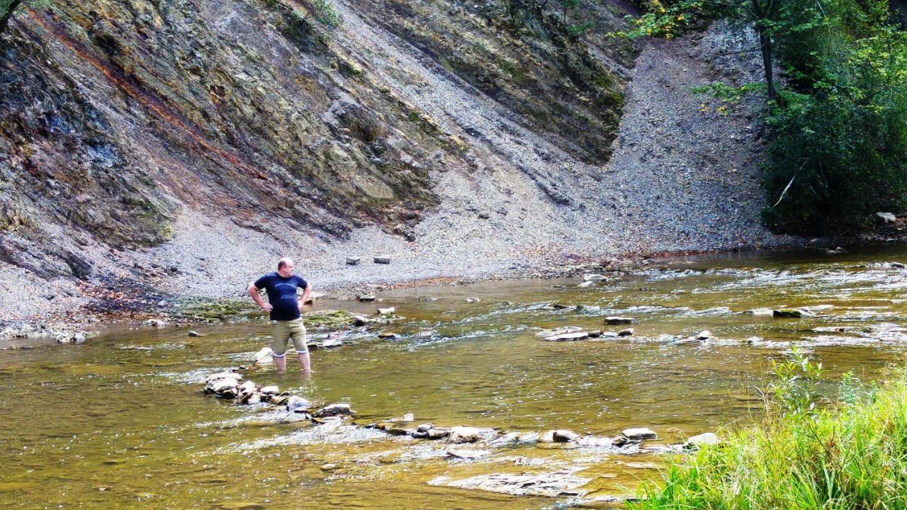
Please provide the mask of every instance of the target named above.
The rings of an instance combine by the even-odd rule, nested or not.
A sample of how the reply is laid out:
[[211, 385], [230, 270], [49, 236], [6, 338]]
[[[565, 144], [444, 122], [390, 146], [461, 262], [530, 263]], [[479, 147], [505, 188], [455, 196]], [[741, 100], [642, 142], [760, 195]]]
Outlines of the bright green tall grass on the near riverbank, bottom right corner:
[[880, 387], [845, 378], [815, 407], [821, 367], [795, 353], [778, 366], [765, 421], [678, 456], [635, 510], [896, 510], [907, 508], [907, 370]]

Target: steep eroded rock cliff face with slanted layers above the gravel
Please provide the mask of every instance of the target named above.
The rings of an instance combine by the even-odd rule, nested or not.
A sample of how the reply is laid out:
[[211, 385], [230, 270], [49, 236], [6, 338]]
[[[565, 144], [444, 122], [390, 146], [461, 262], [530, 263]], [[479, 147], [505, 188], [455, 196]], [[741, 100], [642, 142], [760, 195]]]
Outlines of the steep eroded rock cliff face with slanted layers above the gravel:
[[[508, 122], [580, 162], [607, 162], [632, 55], [601, 36], [625, 7], [595, 9], [600, 25], [584, 39], [522, 0], [21, 11], [0, 39], [0, 260], [89, 279], [122, 265], [109, 253], [171, 240], [187, 211], [249, 230], [279, 222], [330, 240], [378, 225], [413, 240], [440, 200], [433, 176], [481, 168], [473, 146], [493, 152], [494, 141], [486, 126], [454, 129], [414, 103], [404, 89], [419, 77], [389, 86], [371, 56], [381, 48], [326, 14], [383, 27], [445, 80], [501, 104]], [[532, 172], [557, 188], [553, 172]]]

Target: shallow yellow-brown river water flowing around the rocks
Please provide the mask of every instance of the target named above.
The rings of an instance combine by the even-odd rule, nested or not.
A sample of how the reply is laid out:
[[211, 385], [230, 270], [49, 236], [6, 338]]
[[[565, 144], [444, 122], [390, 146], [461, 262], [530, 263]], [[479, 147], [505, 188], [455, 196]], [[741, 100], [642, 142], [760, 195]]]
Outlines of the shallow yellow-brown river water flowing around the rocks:
[[[502, 431], [567, 428], [613, 436], [645, 426], [668, 444], [757, 419], [755, 388], [792, 344], [828, 368], [830, 395], [844, 371], [873, 379], [901, 364], [907, 270], [885, 262], [905, 255], [897, 249], [681, 260], [590, 289], [577, 289], [580, 280], [572, 279], [394, 291], [380, 305], [407, 318], [387, 328], [402, 338], [354, 333], [345, 347], [313, 353], [311, 379], [296, 373], [294, 360], [288, 375], [263, 368], [248, 378], [318, 402], [349, 402], [359, 423], [411, 412], [416, 423]], [[481, 302], [463, 302], [473, 296]], [[600, 309], [551, 309], [553, 301]], [[739, 313], [780, 306], [824, 307], [811, 319]], [[607, 315], [639, 319], [636, 334], [565, 343], [537, 335], [568, 325], [619, 329], [602, 325]], [[235, 406], [201, 395], [201, 381], [248, 364], [267, 345], [268, 324], [196, 329], [205, 336], [139, 328], [78, 346], [0, 351], [0, 505], [552, 508], [581, 500], [428, 482], [564, 469], [590, 478], [586, 498], [628, 495], [658, 472], [624, 463], [665, 459], [529, 445], [456, 461], [444, 457], [450, 446], [441, 442], [312, 427], [274, 407]], [[702, 346], [670, 343], [702, 329], [716, 339]], [[336, 470], [322, 470], [327, 463]]]

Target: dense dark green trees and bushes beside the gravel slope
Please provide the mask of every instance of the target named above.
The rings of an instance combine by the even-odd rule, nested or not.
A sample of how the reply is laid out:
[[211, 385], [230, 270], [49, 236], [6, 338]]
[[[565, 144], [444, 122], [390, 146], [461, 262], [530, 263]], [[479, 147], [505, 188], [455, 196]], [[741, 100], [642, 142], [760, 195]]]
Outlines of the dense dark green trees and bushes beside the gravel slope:
[[768, 119], [764, 218], [775, 230], [853, 230], [907, 208], [907, 35], [883, 0], [824, 8], [824, 25], [792, 34], [791, 89]]

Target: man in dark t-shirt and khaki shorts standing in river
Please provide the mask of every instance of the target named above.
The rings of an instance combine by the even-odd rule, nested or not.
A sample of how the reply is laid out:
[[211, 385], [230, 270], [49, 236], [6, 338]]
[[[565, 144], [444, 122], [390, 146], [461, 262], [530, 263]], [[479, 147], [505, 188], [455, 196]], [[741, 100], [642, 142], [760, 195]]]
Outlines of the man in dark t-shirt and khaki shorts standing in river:
[[[306, 326], [302, 323], [299, 309], [302, 309], [308, 295], [312, 293], [312, 286], [302, 277], [293, 274], [293, 268], [293, 260], [286, 257], [278, 260], [277, 272], [266, 274], [249, 283], [249, 296], [261, 309], [271, 314], [271, 323], [274, 324], [271, 348], [274, 350], [274, 365], [278, 371], [283, 372], [287, 369], [287, 346], [288, 341], [292, 340], [303, 373], [310, 373], [312, 362], [308, 358]], [[301, 298], [297, 297], [297, 288], [303, 289]], [[265, 289], [268, 292], [267, 303], [258, 295], [258, 289]]]

